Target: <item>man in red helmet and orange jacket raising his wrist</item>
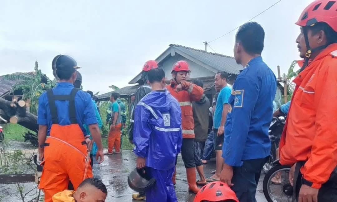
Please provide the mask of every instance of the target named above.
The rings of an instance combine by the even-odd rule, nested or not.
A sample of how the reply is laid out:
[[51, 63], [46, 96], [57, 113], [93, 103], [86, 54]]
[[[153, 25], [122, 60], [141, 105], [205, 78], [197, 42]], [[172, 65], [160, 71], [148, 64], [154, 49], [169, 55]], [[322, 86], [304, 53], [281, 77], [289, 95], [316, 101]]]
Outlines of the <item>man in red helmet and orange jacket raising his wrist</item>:
[[[192, 111], [192, 101], [199, 101], [203, 96], [202, 87], [186, 81], [187, 74], [190, 73], [187, 62], [180, 60], [173, 65], [171, 85], [166, 86], [167, 90], [175, 97], [181, 107], [183, 145], [181, 156], [185, 164], [188, 189], [197, 193], [195, 167], [203, 165], [202, 162], [194, 161], [194, 120]], [[207, 116], [207, 114], [205, 115]], [[203, 172], [203, 170], [201, 171]], [[175, 175], [173, 176], [175, 182]]]

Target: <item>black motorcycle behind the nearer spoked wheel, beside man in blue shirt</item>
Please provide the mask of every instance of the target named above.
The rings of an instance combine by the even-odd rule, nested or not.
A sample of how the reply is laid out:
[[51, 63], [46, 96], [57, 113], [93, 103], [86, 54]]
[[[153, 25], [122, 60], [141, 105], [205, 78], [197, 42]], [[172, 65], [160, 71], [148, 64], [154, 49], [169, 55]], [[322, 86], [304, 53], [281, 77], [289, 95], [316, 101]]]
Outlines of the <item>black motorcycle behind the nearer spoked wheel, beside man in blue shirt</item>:
[[285, 125], [285, 119], [286, 118], [284, 116], [274, 117], [272, 122], [270, 123], [268, 132], [272, 146], [270, 150], [270, 158], [268, 162], [263, 166], [264, 173], [267, 173], [268, 170], [272, 168], [274, 161], [277, 160], [276, 150], [279, 147], [281, 134]]

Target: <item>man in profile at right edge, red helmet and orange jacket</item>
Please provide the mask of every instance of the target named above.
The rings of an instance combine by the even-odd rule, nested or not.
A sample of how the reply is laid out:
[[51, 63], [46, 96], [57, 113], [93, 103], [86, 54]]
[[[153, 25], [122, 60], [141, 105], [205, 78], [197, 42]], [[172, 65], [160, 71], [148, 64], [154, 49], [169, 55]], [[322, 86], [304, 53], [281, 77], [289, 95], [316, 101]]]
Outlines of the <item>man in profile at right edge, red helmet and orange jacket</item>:
[[[280, 163], [300, 202], [337, 199], [337, 2], [316, 0], [302, 12], [296, 42], [305, 63], [280, 141]], [[311, 60], [308, 64], [309, 59]]]

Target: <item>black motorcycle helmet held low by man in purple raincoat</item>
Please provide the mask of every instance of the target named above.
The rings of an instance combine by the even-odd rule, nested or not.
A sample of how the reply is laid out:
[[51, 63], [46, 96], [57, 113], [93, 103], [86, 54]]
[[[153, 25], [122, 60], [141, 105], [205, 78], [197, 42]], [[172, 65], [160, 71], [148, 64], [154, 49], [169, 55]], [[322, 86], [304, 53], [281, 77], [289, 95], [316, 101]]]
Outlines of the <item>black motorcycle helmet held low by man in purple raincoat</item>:
[[127, 179], [129, 187], [136, 192], [145, 192], [152, 187], [156, 183], [156, 179], [151, 178], [147, 173], [146, 167], [132, 170]]

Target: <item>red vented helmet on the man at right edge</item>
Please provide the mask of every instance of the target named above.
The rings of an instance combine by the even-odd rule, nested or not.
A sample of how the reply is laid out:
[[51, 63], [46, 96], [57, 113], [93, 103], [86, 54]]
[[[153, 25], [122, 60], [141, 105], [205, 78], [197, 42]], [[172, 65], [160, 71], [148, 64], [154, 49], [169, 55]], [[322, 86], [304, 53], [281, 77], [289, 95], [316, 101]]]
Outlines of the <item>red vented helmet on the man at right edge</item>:
[[337, 32], [337, 2], [316, 0], [304, 9], [296, 25], [306, 27], [324, 22]]

